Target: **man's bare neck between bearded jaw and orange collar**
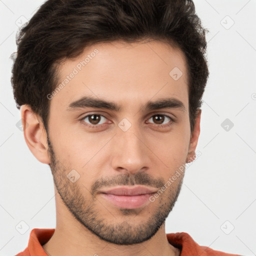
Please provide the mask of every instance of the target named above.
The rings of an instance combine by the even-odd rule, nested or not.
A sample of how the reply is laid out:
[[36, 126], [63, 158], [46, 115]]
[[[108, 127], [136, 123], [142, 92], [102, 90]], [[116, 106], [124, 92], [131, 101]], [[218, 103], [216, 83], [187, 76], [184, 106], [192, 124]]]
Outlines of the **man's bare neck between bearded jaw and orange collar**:
[[119, 245], [101, 240], [80, 224], [70, 225], [70, 223], [66, 220], [61, 225], [56, 225], [49, 241], [42, 245], [48, 256], [178, 256], [180, 254], [180, 250], [168, 242], [164, 223], [150, 239], [132, 245]]

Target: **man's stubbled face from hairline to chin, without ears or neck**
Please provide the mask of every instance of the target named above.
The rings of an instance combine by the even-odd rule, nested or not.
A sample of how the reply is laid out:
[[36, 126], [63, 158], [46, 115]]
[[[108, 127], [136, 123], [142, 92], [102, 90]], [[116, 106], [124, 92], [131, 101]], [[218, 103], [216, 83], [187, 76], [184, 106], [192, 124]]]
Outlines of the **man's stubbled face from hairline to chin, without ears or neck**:
[[[182, 71], [178, 79], [173, 68]], [[49, 96], [48, 150], [62, 207], [105, 241], [149, 239], [177, 199], [183, 173], [167, 181], [189, 151], [183, 54], [160, 41], [98, 43], [58, 70], [63, 86]], [[154, 193], [133, 202], [101, 193], [137, 185]]]

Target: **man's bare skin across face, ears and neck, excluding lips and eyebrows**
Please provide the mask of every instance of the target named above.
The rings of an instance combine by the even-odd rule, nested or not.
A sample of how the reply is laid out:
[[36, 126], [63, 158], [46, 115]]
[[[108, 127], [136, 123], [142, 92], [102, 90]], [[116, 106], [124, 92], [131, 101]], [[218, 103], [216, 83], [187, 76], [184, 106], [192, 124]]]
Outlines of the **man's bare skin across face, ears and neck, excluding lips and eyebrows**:
[[[98, 53], [50, 100], [48, 138], [40, 116], [29, 105], [21, 107], [23, 124], [28, 124], [25, 141], [40, 162], [49, 164], [54, 180], [56, 228], [43, 249], [54, 256], [179, 255], [167, 241], [165, 219], [179, 194], [182, 173], [154, 202], [136, 209], [119, 208], [99, 191], [134, 184], [158, 190], [179, 166], [193, 160], [201, 111], [191, 134], [184, 55], [161, 41], [97, 43], [61, 62], [59, 83], [95, 48]], [[183, 73], [178, 80], [169, 75], [173, 67]], [[81, 96], [112, 101], [121, 109], [67, 110]], [[184, 110], [140, 110], [148, 100], [166, 96], [183, 102]], [[100, 114], [101, 120], [79, 120], [88, 114]], [[131, 124], [126, 131], [118, 126], [123, 118]], [[67, 178], [72, 169], [80, 175], [75, 182]]]

